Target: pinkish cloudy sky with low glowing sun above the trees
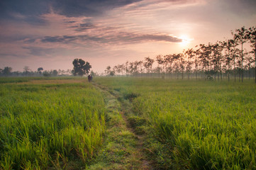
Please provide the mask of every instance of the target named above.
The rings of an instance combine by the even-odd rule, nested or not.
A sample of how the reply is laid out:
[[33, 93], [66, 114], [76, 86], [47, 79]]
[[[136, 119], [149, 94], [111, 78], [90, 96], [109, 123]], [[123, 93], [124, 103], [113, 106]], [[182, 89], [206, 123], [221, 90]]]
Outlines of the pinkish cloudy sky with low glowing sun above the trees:
[[182, 52], [256, 26], [255, 0], [1, 0], [0, 68], [94, 72]]

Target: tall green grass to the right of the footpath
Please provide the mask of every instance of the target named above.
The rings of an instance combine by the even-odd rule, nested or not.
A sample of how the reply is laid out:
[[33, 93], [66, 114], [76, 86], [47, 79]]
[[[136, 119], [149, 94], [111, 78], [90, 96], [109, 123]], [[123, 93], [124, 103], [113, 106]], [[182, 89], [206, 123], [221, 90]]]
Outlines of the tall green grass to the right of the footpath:
[[[165, 169], [256, 169], [256, 86], [209, 81], [97, 79], [133, 98], [165, 145]], [[167, 156], [167, 157], [165, 157]], [[167, 160], [168, 159], [168, 160]]]

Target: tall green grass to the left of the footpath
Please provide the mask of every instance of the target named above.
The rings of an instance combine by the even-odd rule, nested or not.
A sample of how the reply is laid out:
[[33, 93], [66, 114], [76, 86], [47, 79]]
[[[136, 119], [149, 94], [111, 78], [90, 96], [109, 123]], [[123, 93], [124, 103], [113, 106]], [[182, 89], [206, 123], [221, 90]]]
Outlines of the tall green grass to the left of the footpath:
[[1, 84], [0, 97], [0, 169], [85, 166], [101, 145], [104, 98], [91, 84]]

